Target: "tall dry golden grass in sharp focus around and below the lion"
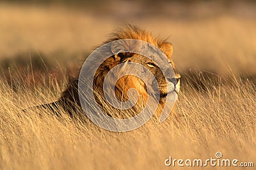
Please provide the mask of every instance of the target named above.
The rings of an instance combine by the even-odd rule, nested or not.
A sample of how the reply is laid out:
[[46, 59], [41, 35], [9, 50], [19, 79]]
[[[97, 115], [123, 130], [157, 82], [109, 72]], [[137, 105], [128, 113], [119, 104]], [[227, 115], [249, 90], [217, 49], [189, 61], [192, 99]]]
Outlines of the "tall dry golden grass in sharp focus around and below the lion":
[[52, 81], [56, 93], [44, 86], [13, 92], [0, 81], [1, 169], [163, 169], [169, 156], [209, 159], [216, 152], [255, 162], [256, 90], [250, 81], [204, 82], [201, 92], [186, 83], [175, 114], [123, 133], [73, 120], [61, 108], [63, 117], [49, 110], [22, 111], [56, 100], [64, 84], [58, 88]]

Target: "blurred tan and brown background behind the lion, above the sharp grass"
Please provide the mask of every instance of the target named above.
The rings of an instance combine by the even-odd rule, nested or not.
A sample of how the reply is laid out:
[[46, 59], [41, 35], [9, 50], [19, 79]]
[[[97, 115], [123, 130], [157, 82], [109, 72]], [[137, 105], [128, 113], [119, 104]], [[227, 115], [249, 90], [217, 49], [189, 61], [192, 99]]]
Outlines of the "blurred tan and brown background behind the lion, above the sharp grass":
[[255, 1], [2, 0], [1, 75], [72, 76], [94, 46], [130, 23], [168, 37], [182, 73], [255, 77], [255, 19]]

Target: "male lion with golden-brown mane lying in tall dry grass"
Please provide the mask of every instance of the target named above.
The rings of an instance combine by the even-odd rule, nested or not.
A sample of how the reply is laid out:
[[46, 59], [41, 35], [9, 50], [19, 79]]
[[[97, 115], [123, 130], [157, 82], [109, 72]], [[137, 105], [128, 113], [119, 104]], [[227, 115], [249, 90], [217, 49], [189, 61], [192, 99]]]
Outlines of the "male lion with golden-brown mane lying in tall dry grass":
[[[146, 41], [147, 43], [150, 43], [151, 45], [156, 46], [159, 48], [168, 58], [168, 64], [170, 64], [175, 71], [175, 66], [173, 64], [172, 60], [172, 53], [173, 53], [173, 46], [171, 43], [166, 42], [166, 40], [161, 40], [159, 38], [154, 38], [152, 34], [148, 31], [145, 31], [143, 29], [140, 29], [137, 26], [134, 25], [125, 25], [124, 27], [121, 27], [120, 29], [116, 30], [111, 34], [111, 38], [109, 38], [107, 41], [104, 42], [104, 44], [119, 40], [119, 39], [138, 39], [142, 41]], [[125, 47], [124, 47], [125, 48]], [[116, 46], [111, 46], [110, 49], [106, 49], [109, 51], [115, 51]], [[116, 53], [116, 52], [113, 52]], [[162, 71], [157, 66], [157, 63], [153, 60], [149, 59], [148, 57], [145, 57], [143, 55], [137, 54], [137, 53], [116, 53], [115, 55], [112, 55], [108, 59], [106, 59], [100, 67], [97, 69], [94, 80], [93, 80], [93, 92], [94, 97], [97, 101], [97, 104], [100, 106], [100, 108], [104, 111], [104, 113], [108, 114], [111, 117], [118, 117], [118, 118], [127, 118], [127, 117], [134, 117], [137, 113], [140, 113], [141, 110], [145, 107], [145, 104], [147, 104], [148, 99], [148, 91], [145, 87], [145, 83], [140, 78], [133, 76], [133, 75], [126, 75], [122, 76], [118, 81], [115, 83], [115, 96], [119, 101], [127, 101], [129, 99], [128, 91], [129, 89], [136, 89], [138, 92], [138, 101], [136, 101], [136, 104], [129, 109], [129, 112], [125, 112], [124, 110], [118, 110], [108, 104], [106, 102], [106, 99], [104, 97], [103, 92], [103, 83], [104, 79], [106, 78], [106, 75], [109, 73], [109, 71], [117, 66], [118, 64], [127, 63], [127, 62], [136, 62], [138, 64], [141, 64], [145, 67], [147, 67], [148, 70], [154, 74], [156, 77], [157, 83], [159, 85], [159, 93], [160, 93], [160, 99], [157, 110], [161, 113], [161, 110], [163, 110], [163, 106], [166, 103], [166, 96], [168, 94], [168, 84], [173, 82], [166, 82], [166, 79], [163, 76]], [[172, 69], [170, 66], [170, 69]], [[122, 67], [122, 69], [125, 69]], [[122, 72], [122, 70], [120, 70]], [[176, 84], [175, 86], [175, 92], [179, 92], [179, 80], [180, 75], [175, 72], [175, 78], [174, 81]], [[173, 80], [168, 80], [173, 81]], [[74, 117], [75, 113], [77, 113], [77, 110], [81, 108], [81, 104], [79, 101], [79, 93], [78, 93], [78, 78], [71, 81], [68, 84], [67, 89], [62, 92], [60, 99], [58, 101], [40, 105], [44, 108], [50, 108], [51, 110], [58, 110], [58, 106], [62, 106], [65, 108], [65, 110], [70, 114], [70, 116]], [[58, 114], [58, 113], [56, 113]]]

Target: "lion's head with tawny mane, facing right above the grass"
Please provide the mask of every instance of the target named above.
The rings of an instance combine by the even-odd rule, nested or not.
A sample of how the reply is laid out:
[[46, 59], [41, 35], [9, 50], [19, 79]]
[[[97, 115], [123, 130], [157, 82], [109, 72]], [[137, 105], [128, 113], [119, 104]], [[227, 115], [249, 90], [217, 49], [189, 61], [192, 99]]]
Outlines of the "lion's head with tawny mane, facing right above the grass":
[[[108, 41], [106, 41], [104, 44], [120, 39], [138, 39], [156, 46], [168, 58], [168, 64], [170, 64], [170, 69], [173, 69], [175, 71], [175, 65], [172, 60], [172, 43], [168, 43], [159, 38], [154, 38], [150, 32], [140, 29], [139, 27], [136, 27], [134, 25], [128, 25], [114, 32], [111, 38], [108, 39]], [[119, 80], [115, 83], [115, 95], [119, 101], [125, 102], [129, 99], [129, 89], [136, 89], [136, 91], [138, 92], [138, 101], [136, 101], [136, 105], [132, 107], [129, 115], [123, 115], [124, 111], [120, 112], [120, 110], [118, 111], [115, 108], [111, 107], [108, 102], [106, 102], [102, 89], [106, 75], [111, 69], [113, 69], [113, 67], [118, 66], [118, 64], [124, 64], [120, 69], [120, 73], [122, 73], [122, 71], [125, 70], [126, 63], [135, 62], [147, 67], [147, 69], [150, 70], [151, 73], [154, 74], [154, 76], [156, 77], [160, 92], [160, 103], [158, 110], [161, 112], [161, 109], [163, 109], [163, 105], [166, 102], [165, 97], [168, 92], [173, 90], [177, 93], [179, 92], [180, 75], [175, 71], [175, 78], [167, 78], [166, 82], [166, 78], [164, 77], [161, 69], [156, 62], [138, 53], [120, 52], [124, 51], [124, 49], [120, 48], [136, 48], [136, 46], [132, 46], [131, 44], [119, 45], [113, 43], [110, 49], [107, 49], [111, 50], [111, 52], [115, 53], [115, 55], [112, 55], [111, 57], [106, 59], [97, 69], [97, 72], [95, 74], [93, 83], [97, 103], [102, 107], [104, 111], [108, 112], [109, 110], [108, 114], [112, 117], [120, 117], [120, 115], [122, 115], [122, 118], [133, 117], [134, 115], [136, 115], [136, 113], [140, 113], [140, 111], [145, 107], [145, 104], [147, 104], [148, 99], [147, 87], [143, 80], [141, 80], [140, 78], [133, 75], [126, 75], [119, 78]], [[174, 89], [173, 84], [176, 85]]]

